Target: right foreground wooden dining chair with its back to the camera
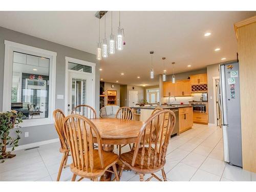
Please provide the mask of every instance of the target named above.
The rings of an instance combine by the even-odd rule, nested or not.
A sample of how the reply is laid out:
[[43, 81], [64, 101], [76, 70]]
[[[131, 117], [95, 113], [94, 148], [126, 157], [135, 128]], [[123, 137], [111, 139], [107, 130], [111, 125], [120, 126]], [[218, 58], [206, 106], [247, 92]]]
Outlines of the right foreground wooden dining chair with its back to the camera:
[[[164, 117], [166, 116], [167, 129], [164, 129], [164, 121], [166, 121]], [[143, 181], [144, 174], [152, 175], [146, 181], [151, 180], [153, 177], [162, 181], [154, 174], [159, 170], [162, 171], [163, 180], [167, 181], [164, 172], [165, 156], [175, 123], [175, 114], [170, 110], [160, 110], [148, 118], [140, 129], [134, 150], [123, 153], [119, 157], [123, 163], [119, 177], [122, 176], [124, 166], [127, 166], [134, 172], [140, 173], [140, 181]], [[158, 132], [153, 142], [154, 130], [158, 130]], [[158, 143], [159, 138], [160, 143]], [[147, 139], [149, 139], [148, 144], [146, 143]]]

